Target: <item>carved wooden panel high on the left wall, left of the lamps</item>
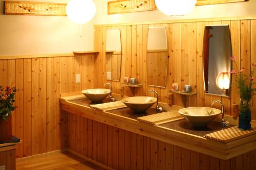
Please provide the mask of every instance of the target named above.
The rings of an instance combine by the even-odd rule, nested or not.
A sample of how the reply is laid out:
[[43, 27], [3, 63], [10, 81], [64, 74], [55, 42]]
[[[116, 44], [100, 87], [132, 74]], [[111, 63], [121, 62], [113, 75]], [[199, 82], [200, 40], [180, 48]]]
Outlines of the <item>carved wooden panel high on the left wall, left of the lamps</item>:
[[66, 6], [67, 4], [6, 1], [5, 14], [66, 16]]

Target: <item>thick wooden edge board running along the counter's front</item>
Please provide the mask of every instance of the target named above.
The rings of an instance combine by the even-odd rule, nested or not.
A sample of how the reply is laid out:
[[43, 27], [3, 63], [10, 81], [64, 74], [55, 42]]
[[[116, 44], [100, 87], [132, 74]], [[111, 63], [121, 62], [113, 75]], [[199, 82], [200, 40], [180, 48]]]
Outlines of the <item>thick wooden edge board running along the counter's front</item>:
[[[119, 129], [147, 136], [223, 160], [227, 160], [256, 149], [256, 135], [247, 136], [228, 143], [216, 142], [197, 135], [138, 122], [133, 118], [120, 116], [110, 112], [92, 110], [88, 106], [72, 102], [72, 100], [78, 98], [81, 99], [81, 97], [81, 95], [77, 95], [74, 96], [74, 98], [71, 96], [61, 98], [61, 109], [95, 120], [96, 122], [111, 125]], [[179, 108], [179, 106], [173, 106], [169, 109]]]

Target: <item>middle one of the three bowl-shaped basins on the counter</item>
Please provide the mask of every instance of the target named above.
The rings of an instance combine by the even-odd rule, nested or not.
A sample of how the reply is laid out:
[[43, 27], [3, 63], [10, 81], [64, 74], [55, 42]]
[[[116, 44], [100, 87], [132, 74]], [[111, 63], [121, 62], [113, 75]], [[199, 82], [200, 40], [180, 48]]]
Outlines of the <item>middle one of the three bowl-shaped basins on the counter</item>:
[[132, 109], [135, 113], [144, 113], [147, 109], [151, 108], [156, 102], [157, 98], [148, 96], [135, 96], [122, 99], [122, 102]]

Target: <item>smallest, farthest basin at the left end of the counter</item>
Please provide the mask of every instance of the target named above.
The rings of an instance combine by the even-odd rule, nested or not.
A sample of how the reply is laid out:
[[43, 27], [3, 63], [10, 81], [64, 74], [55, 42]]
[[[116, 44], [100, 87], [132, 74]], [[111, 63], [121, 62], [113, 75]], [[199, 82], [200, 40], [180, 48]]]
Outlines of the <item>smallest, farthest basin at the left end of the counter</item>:
[[95, 88], [83, 90], [82, 93], [92, 102], [99, 103], [110, 94], [110, 89]]

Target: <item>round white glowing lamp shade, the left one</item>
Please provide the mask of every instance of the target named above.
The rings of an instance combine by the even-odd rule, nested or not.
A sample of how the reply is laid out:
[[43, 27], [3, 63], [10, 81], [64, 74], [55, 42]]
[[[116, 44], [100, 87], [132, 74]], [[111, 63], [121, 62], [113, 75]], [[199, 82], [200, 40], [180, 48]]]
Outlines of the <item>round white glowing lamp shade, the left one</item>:
[[94, 17], [96, 6], [93, 0], [71, 0], [67, 5], [66, 12], [70, 20], [82, 24]]

